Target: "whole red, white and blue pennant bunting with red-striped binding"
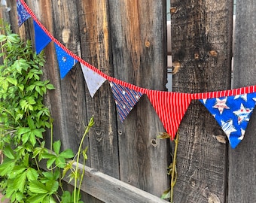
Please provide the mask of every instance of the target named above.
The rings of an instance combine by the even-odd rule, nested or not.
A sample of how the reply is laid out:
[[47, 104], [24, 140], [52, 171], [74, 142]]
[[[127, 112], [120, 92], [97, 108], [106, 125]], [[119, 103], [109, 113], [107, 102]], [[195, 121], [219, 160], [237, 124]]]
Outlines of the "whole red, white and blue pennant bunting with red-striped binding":
[[215, 117], [221, 129], [227, 135], [232, 148], [235, 148], [242, 141], [256, 104], [256, 86], [194, 94], [145, 89], [110, 77], [72, 53], [50, 34], [23, 0], [17, 0], [17, 14], [19, 26], [30, 17], [33, 19], [36, 53], [40, 53], [47, 44], [53, 41], [61, 79], [68, 74], [76, 63], [80, 62], [84, 79], [92, 97], [102, 84], [108, 80], [121, 122], [125, 120], [136, 103], [139, 102], [139, 98], [146, 94], [163, 123], [163, 127], [169, 134], [169, 138], [174, 140], [178, 126], [190, 102], [197, 99]]

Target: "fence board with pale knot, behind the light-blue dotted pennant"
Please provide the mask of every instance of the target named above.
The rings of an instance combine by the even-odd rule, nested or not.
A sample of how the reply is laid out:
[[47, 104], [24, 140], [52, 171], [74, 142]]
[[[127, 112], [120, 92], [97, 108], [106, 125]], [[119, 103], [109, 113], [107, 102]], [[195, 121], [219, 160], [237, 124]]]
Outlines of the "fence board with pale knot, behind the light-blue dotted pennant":
[[[79, 24], [75, 1], [53, 1], [53, 35], [73, 53], [80, 51]], [[80, 65], [77, 64], [71, 71], [59, 80], [62, 138], [64, 147], [78, 150], [81, 136], [84, 134], [84, 125], [87, 125], [86, 97], [84, 95], [84, 77]]]

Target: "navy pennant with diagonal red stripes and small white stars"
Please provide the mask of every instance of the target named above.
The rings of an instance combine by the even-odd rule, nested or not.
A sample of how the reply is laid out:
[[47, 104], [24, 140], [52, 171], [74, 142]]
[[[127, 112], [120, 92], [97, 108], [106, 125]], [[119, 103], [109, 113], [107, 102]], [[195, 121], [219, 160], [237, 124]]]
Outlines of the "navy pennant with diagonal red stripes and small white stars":
[[137, 104], [137, 102], [139, 102], [139, 98], [142, 97], [142, 93], [136, 92], [135, 90], [129, 89], [125, 86], [120, 86], [114, 82], [111, 82], [110, 86], [117, 105], [120, 120], [123, 122], [130, 111], [132, 111], [133, 107]]

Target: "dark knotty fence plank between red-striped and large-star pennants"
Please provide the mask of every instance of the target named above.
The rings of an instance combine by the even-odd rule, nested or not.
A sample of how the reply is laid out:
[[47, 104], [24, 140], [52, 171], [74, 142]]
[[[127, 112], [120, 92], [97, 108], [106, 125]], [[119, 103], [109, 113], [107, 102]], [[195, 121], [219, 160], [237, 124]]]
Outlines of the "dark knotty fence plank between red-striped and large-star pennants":
[[[171, 1], [172, 59], [175, 92], [209, 92], [230, 88], [233, 1]], [[177, 68], [177, 67], [176, 67]], [[174, 202], [225, 202], [227, 148], [209, 111], [190, 104], [178, 144]]]

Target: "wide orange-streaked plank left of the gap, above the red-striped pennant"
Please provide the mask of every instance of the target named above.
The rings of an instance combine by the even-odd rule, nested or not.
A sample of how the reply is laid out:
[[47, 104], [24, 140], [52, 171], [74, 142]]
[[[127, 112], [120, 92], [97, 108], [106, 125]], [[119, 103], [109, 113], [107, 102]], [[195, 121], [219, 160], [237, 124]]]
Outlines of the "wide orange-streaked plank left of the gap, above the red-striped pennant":
[[[164, 90], [166, 2], [108, 2], [114, 77]], [[144, 95], [126, 120], [117, 125], [120, 180], [160, 196], [169, 187], [169, 145], [167, 141], [155, 141], [164, 129], [148, 98]]]

